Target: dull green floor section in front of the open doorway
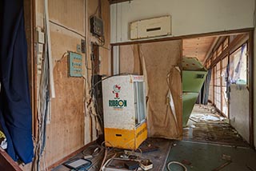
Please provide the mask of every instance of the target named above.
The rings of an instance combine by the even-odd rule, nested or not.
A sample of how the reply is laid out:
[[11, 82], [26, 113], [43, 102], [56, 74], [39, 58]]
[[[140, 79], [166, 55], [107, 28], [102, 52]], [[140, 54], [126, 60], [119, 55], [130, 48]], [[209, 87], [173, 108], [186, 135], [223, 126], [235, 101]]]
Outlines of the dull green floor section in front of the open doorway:
[[[193, 141], [174, 142], [166, 166], [170, 161], [181, 162], [188, 171], [256, 170], [256, 153], [253, 149], [228, 145], [209, 145]], [[168, 169], [165, 168], [164, 170]], [[179, 165], [170, 165], [170, 170], [183, 171], [184, 169]]]

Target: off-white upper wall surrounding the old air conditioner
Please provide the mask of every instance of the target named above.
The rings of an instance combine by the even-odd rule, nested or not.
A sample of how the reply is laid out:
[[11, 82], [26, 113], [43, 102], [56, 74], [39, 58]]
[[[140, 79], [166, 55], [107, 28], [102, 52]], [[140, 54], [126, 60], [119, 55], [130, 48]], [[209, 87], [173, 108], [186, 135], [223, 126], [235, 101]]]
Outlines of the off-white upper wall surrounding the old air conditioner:
[[254, 27], [254, 0], [134, 0], [110, 7], [111, 42], [129, 40], [129, 23], [172, 16], [172, 36]]

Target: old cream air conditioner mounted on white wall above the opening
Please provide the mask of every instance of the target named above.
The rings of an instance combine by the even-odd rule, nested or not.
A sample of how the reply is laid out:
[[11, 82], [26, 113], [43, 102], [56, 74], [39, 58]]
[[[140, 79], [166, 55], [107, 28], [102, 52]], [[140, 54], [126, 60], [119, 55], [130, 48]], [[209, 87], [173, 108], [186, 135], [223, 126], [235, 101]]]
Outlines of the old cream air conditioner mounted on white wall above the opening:
[[130, 23], [130, 39], [153, 38], [171, 34], [171, 16], [150, 18]]

